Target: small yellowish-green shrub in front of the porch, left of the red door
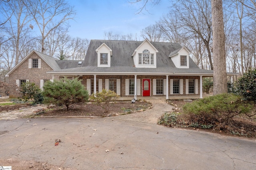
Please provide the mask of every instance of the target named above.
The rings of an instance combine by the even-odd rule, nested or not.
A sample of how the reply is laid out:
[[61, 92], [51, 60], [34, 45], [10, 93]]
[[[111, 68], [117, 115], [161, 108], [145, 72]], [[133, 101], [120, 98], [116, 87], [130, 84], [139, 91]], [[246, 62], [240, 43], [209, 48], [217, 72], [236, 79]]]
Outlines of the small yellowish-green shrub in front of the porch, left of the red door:
[[107, 113], [109, 108], [116, 102], [118, 95], [112, 90], [102, 89], [102, 92], [93, 93], [90, 96], [93, 104], [100, 106]]

